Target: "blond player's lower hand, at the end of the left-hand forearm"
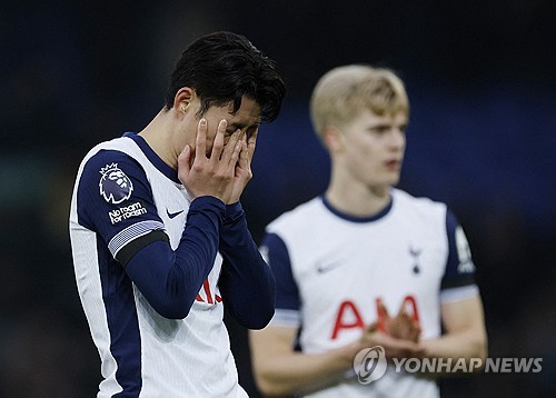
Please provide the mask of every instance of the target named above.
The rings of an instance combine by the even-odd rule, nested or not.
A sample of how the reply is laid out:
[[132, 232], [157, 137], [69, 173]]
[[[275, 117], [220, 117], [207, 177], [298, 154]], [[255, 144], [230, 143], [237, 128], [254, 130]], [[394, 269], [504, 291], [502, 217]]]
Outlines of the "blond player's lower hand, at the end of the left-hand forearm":
[[363, 347], [384, 347], [387, 359], [421, 358], [425, 355], [425, 348], [418, 342], [399, 339], [379, 331], [376, 322], [365, 329], [363, 337], [359, 339], [359, 344]]

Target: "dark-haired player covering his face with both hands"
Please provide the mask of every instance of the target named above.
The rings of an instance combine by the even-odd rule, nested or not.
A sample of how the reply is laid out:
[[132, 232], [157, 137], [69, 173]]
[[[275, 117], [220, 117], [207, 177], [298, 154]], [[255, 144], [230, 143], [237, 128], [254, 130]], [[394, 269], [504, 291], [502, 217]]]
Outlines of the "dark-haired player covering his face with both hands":
[[259, 329], [274, 315], [275, 280], [239, 199], [284, 94], [246, 38], [208, 34], [183, 51], [142, 131], [85, 157], [70, 236], [98, 397], [247, 396], [222, 317]]

